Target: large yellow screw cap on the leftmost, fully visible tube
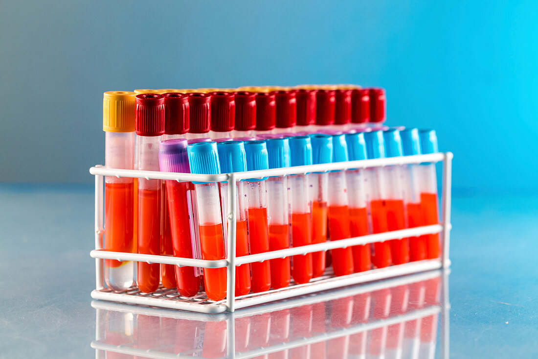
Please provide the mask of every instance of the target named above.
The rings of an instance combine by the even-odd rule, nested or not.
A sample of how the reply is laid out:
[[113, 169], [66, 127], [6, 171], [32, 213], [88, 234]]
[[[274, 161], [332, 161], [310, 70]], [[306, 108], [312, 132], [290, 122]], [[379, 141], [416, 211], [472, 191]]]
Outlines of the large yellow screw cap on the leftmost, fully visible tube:
[[103, 94], [103, 131], [134, 131], [134, 92], [109, 91]]

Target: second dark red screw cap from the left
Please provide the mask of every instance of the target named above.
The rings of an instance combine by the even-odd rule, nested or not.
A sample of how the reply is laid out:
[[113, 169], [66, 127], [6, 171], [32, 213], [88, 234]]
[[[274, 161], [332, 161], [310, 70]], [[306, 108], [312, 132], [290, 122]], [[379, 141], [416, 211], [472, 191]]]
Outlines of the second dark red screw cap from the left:
[[165, 96], [165, 134], [182, 135], [189, 132], [189, 101], [180, 92], [167, 92]]

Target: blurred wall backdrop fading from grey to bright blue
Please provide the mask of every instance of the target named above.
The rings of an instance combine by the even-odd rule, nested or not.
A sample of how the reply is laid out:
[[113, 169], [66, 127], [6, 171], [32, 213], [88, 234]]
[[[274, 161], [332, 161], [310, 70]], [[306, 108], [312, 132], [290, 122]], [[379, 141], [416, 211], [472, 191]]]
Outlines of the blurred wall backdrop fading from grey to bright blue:
[[534, 190], [534, 1], [2, 1], [0, 181], [90, 183], [102, 93], [356, 83], [431, 127], [456, 191]]

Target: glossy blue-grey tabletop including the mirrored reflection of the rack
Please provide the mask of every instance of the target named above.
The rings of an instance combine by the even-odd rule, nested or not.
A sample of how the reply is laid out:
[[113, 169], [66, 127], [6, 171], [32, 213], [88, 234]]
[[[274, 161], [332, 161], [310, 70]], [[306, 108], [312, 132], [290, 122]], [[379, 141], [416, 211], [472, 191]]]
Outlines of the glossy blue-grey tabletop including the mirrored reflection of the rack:
[[[450, 275], [213, 317], [92, 302], [93, 199], [90, 186], [0, 185], [0, 358], [222, 357], [230, 345], [237, 357], [538, 356], [537, 197], [453, 198]], [[92, 348], [118, 344], [134, 351]]]

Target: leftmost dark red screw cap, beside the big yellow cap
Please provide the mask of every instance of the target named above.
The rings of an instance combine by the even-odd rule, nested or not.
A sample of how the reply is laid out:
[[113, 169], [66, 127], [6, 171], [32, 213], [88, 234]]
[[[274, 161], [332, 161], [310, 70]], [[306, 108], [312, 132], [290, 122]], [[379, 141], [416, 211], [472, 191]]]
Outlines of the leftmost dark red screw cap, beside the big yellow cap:
[[136, 95], [134, 132], [139, 136], [165, 133], [165, 97], [157, 93]]

